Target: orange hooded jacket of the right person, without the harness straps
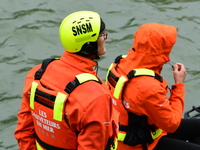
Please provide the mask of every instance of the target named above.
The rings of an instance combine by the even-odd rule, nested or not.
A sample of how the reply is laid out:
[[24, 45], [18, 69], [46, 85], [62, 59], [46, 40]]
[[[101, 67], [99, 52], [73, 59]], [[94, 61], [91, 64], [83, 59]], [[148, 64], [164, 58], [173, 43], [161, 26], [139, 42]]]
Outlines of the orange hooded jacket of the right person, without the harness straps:
[[[159, 23], [142, 25], [134, 35], [133, 46], [127, 57], [121, 59], [114, 67], [115, 75], [127, 76], [134, 69], [149, 69], [160, 75], [162, 66], [170, 61], [169, 54], [176, 42], [176, 28]], [[113, 71], [113, 69], [111, 69]], [[108, 76], [109, 78], [109, 76]], [[126, 80], [124, 78], [124, 80]], [[112, 82], [112, 81], [111, 81]], [[107, 83], [110, 91], [114, 89], [110, 81]], [[127, 81], [121, 93], [121, 102], [117, 99], [114, 105], [120, 111], [120, 124], [128, 125], [128, 112], [148, 117], [147, 123], [155, 125], [162, 131], [154, 137], [153, 143], [147, 144], [148, 150], [154, 149], [159, 139], [167, 132], [174, 132], [181, 121], [184, 108], [184, 84], [177, 83], [172, 86], [170, 97], [167, 96], [168, 85], [151, 76], [137, 76]], [[118, 106], [118, 104], [122, 104]], [[120, 108], [121, 109], [118, 109]], [[119, 131], [119, 135], [123, 133]], [[120, 137], [120, 136], [119, 136]], [[129, 146], [118, 139], [118, 150], [142, 150], [142, 145]]]

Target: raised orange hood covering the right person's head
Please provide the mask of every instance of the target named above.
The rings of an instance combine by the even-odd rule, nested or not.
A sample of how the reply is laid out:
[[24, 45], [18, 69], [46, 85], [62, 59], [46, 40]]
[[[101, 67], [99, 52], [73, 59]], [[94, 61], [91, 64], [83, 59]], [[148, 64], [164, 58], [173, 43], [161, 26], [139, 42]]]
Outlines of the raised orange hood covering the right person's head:
[[140, 26], [127, 58], [119, 65], [120, 70], [127, 74], [135, 68], [147, 68], [160, 74], [162, 65], [170, 61], [169, 54], [176, 43], [176, 35], [177, 29], [173, 26], [160, 23]]

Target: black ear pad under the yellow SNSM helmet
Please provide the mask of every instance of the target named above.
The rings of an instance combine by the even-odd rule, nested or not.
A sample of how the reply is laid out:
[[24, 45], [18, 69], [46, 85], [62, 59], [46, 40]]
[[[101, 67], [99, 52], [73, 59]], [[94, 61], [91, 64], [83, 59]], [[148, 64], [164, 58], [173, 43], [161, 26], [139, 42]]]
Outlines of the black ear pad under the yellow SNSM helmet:
[[82, 46], [80, 52], [84, 53], [85, 55], [95, 55], [98, 53], [97, 49], [97, 42], [87, 42]]

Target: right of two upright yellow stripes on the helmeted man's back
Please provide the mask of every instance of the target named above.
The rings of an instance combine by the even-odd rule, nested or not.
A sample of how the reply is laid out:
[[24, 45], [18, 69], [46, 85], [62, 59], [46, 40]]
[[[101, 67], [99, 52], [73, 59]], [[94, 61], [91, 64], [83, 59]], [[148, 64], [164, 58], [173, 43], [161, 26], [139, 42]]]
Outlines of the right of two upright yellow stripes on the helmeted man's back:
[[67, 95], [58, 92], [55, 103], [54, 103], [54, 108], [53, 108], [53, 119], [62, 121], [62, 114], [63, 114], [63, 109], [64, 109], [64, 103]]

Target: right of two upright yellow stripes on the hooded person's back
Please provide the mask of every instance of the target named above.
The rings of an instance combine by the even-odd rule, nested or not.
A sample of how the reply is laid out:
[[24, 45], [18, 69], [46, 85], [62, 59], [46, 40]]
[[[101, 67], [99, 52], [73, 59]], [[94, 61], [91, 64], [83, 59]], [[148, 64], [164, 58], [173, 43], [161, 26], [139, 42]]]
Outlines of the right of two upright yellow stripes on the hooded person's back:
[[127, 78], [125, 76], [121, 76], [115, 86], [113, 96], [117, 99], [119, 99], [119, 95], [121, 93], [122, 87], [124, 83], [127, 81]]

